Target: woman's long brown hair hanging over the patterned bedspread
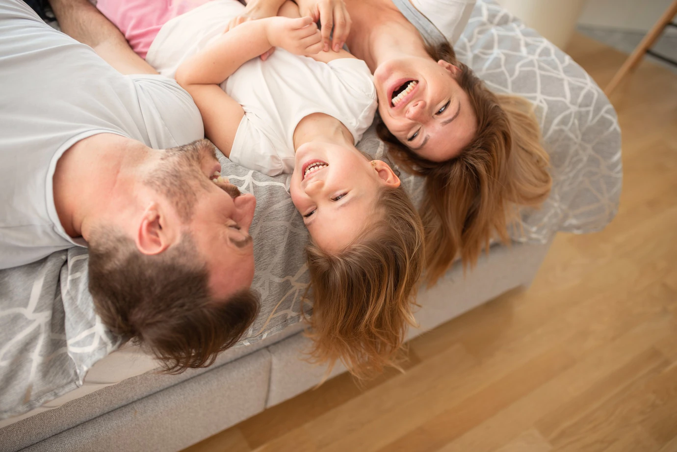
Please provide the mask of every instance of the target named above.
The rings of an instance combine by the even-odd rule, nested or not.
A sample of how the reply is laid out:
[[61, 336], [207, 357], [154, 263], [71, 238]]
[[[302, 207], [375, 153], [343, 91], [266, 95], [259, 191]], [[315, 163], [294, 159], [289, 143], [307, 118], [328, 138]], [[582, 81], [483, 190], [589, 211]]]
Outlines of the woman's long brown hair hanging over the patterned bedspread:
[[548, 197], [552, 179], [531, 104], [489, 91], [456, 60], [451, 45], [428, 52], [435, 61], [460, 68], [456, 81], [477, 117], [475, 138], [458, 157], [439, 163], [416, 155], [382, 121], [377, 131], [401, 167], [425, 178], [420, 214], [426, 236], [425, 280], [433, 285], [457, 255], [472, 267], [492, 238], [508, 243], [508, 225], [517, 220], [519, 207], [538, 207]]

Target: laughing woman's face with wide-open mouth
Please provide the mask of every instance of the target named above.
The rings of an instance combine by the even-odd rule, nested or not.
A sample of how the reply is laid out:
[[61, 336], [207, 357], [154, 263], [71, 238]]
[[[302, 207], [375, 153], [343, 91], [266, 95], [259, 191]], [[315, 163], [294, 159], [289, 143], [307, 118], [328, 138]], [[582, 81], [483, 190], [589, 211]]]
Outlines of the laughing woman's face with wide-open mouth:
[[443, 60], [418, 57], [389, 60], [374, 72], [381, 119], [424, 159], [452, 159], [475, 136], [475, 112], [454, 78], [459, 72]]

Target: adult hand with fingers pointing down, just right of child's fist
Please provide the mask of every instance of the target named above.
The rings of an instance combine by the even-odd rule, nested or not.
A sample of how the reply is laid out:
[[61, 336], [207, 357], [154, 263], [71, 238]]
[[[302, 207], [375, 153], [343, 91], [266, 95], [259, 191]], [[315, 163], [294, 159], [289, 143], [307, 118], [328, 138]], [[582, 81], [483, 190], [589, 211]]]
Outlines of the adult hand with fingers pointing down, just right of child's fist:
[[339, 52], [350, 34], [350, 14], [343, 0], [296, 0], [301, 16], [311, 16], [315, 22], [322, 24], [322, 41], [324, 51], [329, 52], [332, 39], [330, 35], [334, 29], [334, 52]]

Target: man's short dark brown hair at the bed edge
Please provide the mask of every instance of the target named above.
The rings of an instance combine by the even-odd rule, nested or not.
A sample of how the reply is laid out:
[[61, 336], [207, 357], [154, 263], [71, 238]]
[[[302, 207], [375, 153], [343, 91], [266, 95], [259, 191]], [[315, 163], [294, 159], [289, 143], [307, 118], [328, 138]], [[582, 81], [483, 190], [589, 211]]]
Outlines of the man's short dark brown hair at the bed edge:
[[209, 274], [190, 234], [158, 255], [110, 228], [89, 243], [89, 291], [104, 325], [180, 373], [207, 367], [254, 321], [259, 300], [244, 289], [223, 300], [209, 294]]

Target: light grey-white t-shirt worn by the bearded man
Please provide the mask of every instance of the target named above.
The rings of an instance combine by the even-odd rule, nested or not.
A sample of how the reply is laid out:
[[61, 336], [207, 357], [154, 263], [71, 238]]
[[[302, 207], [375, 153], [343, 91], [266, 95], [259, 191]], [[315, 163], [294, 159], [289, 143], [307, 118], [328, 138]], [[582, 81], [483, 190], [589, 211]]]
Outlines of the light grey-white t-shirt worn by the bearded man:
[[83, 245], [64, 231], [52, 191], [58, 159], [79, 140], [116, 133], [161, 149], [204, 136], [174, 80], [121, 75], [21, 0], [0, 2], [0, 89], [0, 269]]

